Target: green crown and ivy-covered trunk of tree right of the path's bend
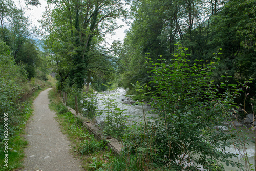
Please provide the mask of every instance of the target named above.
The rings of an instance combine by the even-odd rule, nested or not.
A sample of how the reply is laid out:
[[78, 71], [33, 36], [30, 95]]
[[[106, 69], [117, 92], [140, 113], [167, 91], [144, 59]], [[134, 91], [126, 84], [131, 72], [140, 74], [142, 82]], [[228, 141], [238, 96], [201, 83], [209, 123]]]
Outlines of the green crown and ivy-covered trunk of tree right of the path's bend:
[[98, 78], [110, 77], [114, 71], [116, 59], [102, 42], [105, 34], [118, 28], [115, 18], [126, 13], [121, 0], [54, 3], [57, 5], [46, 10], [41, 24], [46, 49], [54, 54], [52, 67], [58, 73], [59, 88], [66, 79], [78, 89], [85, 82], [95, 81], [99, 86]]

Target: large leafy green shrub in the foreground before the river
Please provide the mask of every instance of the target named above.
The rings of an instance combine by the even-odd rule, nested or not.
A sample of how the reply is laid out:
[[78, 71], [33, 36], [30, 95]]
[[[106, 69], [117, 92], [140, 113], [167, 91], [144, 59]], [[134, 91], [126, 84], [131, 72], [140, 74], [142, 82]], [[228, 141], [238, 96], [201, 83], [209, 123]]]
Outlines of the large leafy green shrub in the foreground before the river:
[[[229, 118], [227, 111], [234, 108], [234, 98], [242, 89], [228, 84], [228, 80], [220, 84], [211, 80], [219, 58], [209, 63], [195, 60], [190, 67], [184, 49], [187, 50], [179, 45], [171, 60], [159, 59], [153, 63], [147, 58], [153, 73], [155, 91], [151, 93], [158, 117], [154, 123], [145, 122], [137, 131], [127, 133], [126, 148], [141, 154], [144, 160], [166, 164], [175, 170], [185, 169], [186, 163], [189, 169], [196, 169], [196, 165], [207, 170], [217, 166], [223, 169], [221, 162], [239, 166], [228, 160], [236, 154], [225, 152], [234, 136], [217, 132], [213, 127]], [[225, 92], [219, 93], [223, 88]]]

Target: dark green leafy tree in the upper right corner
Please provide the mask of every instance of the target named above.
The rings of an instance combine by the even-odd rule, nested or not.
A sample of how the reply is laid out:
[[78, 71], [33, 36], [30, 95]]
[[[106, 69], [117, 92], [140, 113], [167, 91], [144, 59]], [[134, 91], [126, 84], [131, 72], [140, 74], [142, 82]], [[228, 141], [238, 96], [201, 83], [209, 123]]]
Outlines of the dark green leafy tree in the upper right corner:
[[255, 76], [253, 58], [255, 51], [253, 36], [250, 36], [251, 33], [253, 34], [253, 29], [249, 29], [255, 15], [246, 14], [255, 8], [254, 6], [252, 2], [232, 0], [211, 18], [212, 40], [209, 44], [211, 44], [211, 49], [214, 47], [223, 49], [222, 65], [225, 68], [222, 72], [233, 76], [234, 80], [242, 81]]

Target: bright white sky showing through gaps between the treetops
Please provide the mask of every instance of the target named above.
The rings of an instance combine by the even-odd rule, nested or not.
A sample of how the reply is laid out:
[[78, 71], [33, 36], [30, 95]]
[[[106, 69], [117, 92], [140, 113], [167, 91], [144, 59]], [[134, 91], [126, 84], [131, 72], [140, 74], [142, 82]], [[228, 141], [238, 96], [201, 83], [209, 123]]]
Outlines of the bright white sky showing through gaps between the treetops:
[[[20, 5], [22, 7], [25, 7], [25, 1], [24, 0], [20, 0], [20, 5], [18, 0], [14, 0], [14, 2], [16, 3], [17, 7], [19, 7]], [[33, 25], [37, 25], [39, 27], [39, 23], [38, 20], [42, 19], [42, 13], [45, 11], [45, 7], [47, 6], [47, 2], [46, 0], [40, 0], [41, 5], [38, 5], [38, 7], [35, 6], [29, 6], [31, 10], [26, 9], [26, 15], [30, 16], [30, 20], [32, 21]], [[125, 30], [129, 29], [129, 26], [127, 26], [125, 24], [125, 22], [123, 22], [120, 19], [117, 19], [117, 23], [118, 25], [124, 25], [122, 28], [119, 28], [115, 31], [115, 35], [106, 35], [106, 41], [111, 44], [114, 40], [120, 40], [123, 42], [123, 39], [126, 35]]]

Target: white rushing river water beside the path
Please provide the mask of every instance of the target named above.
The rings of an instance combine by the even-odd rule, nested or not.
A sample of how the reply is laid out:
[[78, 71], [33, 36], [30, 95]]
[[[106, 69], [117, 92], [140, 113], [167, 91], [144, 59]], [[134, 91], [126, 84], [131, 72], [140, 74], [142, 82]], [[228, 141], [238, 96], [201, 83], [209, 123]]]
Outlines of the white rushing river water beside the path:
[[[142, 109], [142, 106], [141, 105], [130, 105], [130, 104], [122, 104], [122, 99], [126, 99], [125, 97], [125, 94], [126, 94], [126, 91], [123, 89], [123, 88], [119, 88], [117, 89], [116, 91], [112, 91], [112, 92], [104, 92], [104, 94], [102, 95], [97, 95], [97, 98], [98, 98], [98, 111], [102, 111], [102, 110], [105, 110], [106, 108], [106, 105], [103, 104], [103, 98], [106, 99], [108, 98], [108, 94], [112, 95], [113, 96], [113, 99], [115, 99], [115, 101], [118, 103], [118, 107], [120, 109], [125, 109], [125, 112], [123, 115], [129, 115], [129, 121], [132, 122], [132, 121], [143, 121], [142, 118], [143, 118], [143, 109], [144, 109], [144, 112], [146, 113], [146, 119], [147, 120], [150, 120], [150, 117], [157, 117], [156, 115], [154, 114], [150, 114], [150, 110], [151, 108], [148, 107], [148, 106], [143, 106], [143, 109]], [[101, 115], [101, 116], [98, 116], [96, 118], [96, 122], [97, 123], [100, 123], [101, 121], [104, 121], [104, 118], [105, 118], [105, 115]], [[251, 130], [250, 128], [246, 129], [246, 128], [242, 128], [242, 127], [239, 127], [237, 128], [237, 130], [239, 131], [238, 133], [238, 136], [241, 136], [243, 137], [243, 135], [247, 135], [249, 137], [249, 140], [247, 141], [247, 144], [246, 146], [243, 146], [243, 147], [234, 147], [234, 146], [230, 146], [230, 147], [226, 147], [226, 151], [227, 152], [231, 152], [231, 153], [235, 153], [235, 154], [238, 154], [238, 158], [237, 159], [232, 159], [233, 161], [236, 161], [236, 162], [239, 162], [239, 163], [242, 163], [244, 166], [246, 165], [245, 164], [245, 161], [244, 161], [244, 157], [245, 157], [245, 154], [247, 154], [248, 156], [248, 160], [249, 160], [249, 163], [252, 164], [252, 168], [254, 169], [254, 164], [255, 164], [255, 131]], [[239, 148], [239, 150], [238, 150]], [[246, 149], [246, 150], [245, 150]], [[224, 167], [225, 167], [225, 170], [239, 170], [239, 169], [235, 169], [234, 167], [232, 166], [226, 166], [225, 163], [223, 163]]]

